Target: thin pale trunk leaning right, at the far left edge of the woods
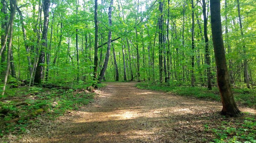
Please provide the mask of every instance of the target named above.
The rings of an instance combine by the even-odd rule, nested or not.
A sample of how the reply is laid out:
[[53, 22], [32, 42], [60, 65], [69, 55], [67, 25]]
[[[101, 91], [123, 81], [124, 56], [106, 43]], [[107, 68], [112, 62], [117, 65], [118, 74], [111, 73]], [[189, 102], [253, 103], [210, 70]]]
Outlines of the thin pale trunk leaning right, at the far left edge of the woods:
[[15, 11], [16, 11], [16, 0], [10, 0], [10, 20], [9, 24], [10, 25], [10, 35], [9, 35], [9, 42], [8, 42], [8, 49], [7, 49], [7, 67], [5, 70], [5, 76], [4, 76], [4, 87], [3, 87], [3, 92], [2, 96], [4, 95], [5, 87], [7, 84], [7, 78], [10, 70], [10, 57], [11, 57], [11, 47], [12, 47], [12, 33], [13, 33], [13, 21], [14, 21], [14, 16], [15, 16]]

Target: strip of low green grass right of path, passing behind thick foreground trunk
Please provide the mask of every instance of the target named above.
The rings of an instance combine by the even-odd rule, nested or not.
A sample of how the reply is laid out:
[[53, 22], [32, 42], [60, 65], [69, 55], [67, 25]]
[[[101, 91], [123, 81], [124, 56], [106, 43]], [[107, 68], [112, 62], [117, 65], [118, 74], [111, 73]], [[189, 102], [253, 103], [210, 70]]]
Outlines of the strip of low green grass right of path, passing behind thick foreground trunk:
[[[211, 100], [211, 101], [221, 101], [220, 93], [217, 87], [213, 87], [212, 90], [208, 90], [206, 87], [189, 87], [189, 86], [168, 86], [167, 84], [148, 84], [148, 83], [138, 83], [137, 88], [148, 89], [155, 91], [162, 91], [167, 93], [172, 93], [180, 96], [189, 96], [197, 99]], [[240, 106], [256, 108], [256, 94], [251, 90], [246, 88], [234, 88], [233, 90], [234, 98]], [[249, 94], [244, 94], [244, 91], [249, 91]]]

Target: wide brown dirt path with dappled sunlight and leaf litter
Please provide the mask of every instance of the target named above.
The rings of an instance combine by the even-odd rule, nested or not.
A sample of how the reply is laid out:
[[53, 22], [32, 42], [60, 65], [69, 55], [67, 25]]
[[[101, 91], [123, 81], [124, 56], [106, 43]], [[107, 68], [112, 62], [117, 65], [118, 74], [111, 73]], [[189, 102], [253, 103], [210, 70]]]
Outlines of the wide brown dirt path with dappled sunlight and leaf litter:
[[[141, 90], [136, 82], [110, 82], [95, 101], [55, 121], [30, 129], [17, 143], [203, 143], [215, 134], [208, 128], [243, 118], [221, 116], [220, 102]], [[256, 110], [240, 108], [243, 112]], [[250, 114], [249, 114], [250, 115]]]

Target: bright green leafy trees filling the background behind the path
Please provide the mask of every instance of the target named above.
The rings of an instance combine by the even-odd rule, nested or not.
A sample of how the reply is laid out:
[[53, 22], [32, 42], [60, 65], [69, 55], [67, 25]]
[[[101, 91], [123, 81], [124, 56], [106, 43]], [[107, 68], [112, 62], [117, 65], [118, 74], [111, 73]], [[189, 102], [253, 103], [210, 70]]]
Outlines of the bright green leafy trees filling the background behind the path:
[[[256, 34], [253, 2], [226, 0], [221, 8], [232, 87], [255, 85], [256, 44], [247, 38]], [[8, 47], [11, 3], [1, 0], [0, 14], [0, 79], [4, 85], [7, 73], [7, 87], [12, 78], [31, 86], [105, 79], [216, 86], [209, 0], [23, 0]]]

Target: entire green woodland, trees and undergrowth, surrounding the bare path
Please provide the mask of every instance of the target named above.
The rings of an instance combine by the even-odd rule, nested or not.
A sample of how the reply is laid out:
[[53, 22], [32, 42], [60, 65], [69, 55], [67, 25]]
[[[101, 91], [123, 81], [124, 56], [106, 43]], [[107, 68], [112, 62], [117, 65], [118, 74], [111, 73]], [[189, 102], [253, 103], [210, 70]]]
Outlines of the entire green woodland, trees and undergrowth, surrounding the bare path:
[[116, 81], [220, 102], [221, 115], [252, 123], [250, 138], [237, 138], [255, 142], [254, 0], [1, 0], [0, 9], [1, 137], [43, 112], [78, 110]]

